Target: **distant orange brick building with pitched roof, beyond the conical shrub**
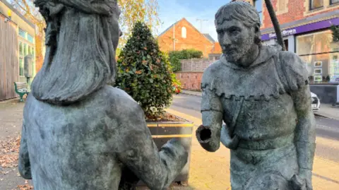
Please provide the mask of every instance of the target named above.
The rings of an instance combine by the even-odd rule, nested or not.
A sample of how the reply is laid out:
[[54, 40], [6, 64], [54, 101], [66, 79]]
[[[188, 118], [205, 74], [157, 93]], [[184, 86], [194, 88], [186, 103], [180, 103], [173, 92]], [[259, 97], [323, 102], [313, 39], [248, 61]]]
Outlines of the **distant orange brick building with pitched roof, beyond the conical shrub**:
[[162, 32], [157, 37], [157, 41], [163, 52], [197, 49], [203, 52], [203, 57], [208, 57], [209, 54], [221, 54], [220, 44], [210, 35], [199, 32], [185, 18]]

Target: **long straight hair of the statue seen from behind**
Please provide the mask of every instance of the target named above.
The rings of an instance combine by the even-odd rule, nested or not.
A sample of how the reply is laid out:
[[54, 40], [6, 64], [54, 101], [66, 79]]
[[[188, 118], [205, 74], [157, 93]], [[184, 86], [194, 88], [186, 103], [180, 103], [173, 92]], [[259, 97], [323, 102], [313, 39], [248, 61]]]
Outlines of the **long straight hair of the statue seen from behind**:
[[119, 36], [112, 36], [110, 25], [117, 20], [118, 10], [115, 0], [59, 2], [35, 1], [47, 22], [47, 50], [32, 82], [32, 95], [51, 104], [69, 105], [114, 83], [117, 40], [112, 38]]

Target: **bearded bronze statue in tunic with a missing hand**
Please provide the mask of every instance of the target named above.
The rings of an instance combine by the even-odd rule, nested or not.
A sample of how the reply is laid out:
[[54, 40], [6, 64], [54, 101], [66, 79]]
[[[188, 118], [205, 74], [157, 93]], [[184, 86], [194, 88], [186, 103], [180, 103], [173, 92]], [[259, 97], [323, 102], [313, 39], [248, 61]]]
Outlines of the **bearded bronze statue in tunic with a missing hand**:
[[[292, 52], [260, 40], [246, 2], [215, 14], [221, 59], [203, 73], [201, 146], [231, 153], [232, 190], [311, 190], [315, 119], [307, 69]], [[225, 126], [222, 126], [222, 121]]]

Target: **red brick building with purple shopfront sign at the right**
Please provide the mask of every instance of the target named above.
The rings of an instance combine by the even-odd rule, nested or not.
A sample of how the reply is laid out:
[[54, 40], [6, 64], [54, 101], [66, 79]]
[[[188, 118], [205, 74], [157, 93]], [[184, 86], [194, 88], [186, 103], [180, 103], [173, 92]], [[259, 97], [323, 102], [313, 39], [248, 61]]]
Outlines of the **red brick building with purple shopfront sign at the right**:
[[[261, 16], [261, 40], [275, 44], [276, 36], [263, 0], [252, 0]], [[287, 51], [307, 64], [311, 91], [322, 102], [339, 102], [339, 43], [331, 25], [339, 25], [339, 0], [272, 0]]]

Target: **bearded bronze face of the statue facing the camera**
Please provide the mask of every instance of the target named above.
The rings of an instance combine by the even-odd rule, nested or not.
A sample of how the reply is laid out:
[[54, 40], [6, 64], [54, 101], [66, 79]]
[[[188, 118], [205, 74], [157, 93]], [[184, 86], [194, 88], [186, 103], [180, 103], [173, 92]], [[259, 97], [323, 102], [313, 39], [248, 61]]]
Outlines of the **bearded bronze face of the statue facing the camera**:
[[255, 30], [239, 20], [225, 20], [217, 25], [218, 40], [225, 59], [237, 64], [255, 43]]

